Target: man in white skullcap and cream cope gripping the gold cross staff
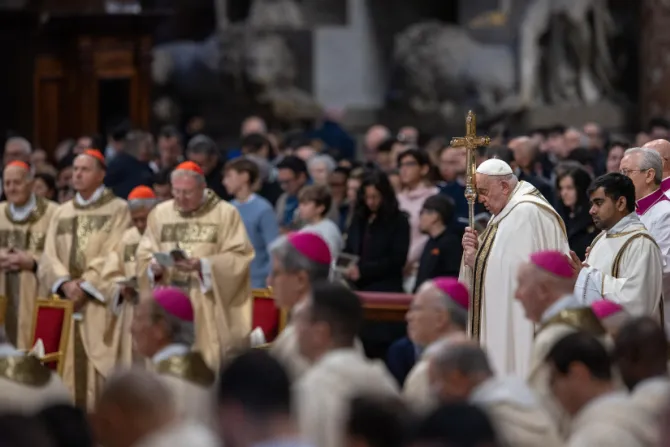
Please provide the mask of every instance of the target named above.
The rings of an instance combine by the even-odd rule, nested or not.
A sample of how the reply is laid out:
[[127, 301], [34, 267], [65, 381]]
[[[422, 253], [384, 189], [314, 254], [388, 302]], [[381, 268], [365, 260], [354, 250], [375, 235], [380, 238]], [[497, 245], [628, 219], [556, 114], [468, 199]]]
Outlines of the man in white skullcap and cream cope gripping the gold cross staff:
[[534, 331], [514, 300], [517, 270], [537, 251], [567, 254], [565, 224], [542, 194], [518, 181], [502, 160], [477, 168], [477, 195], [493, 217], [481, 236], [469, 228], [463, 236], [459, 279], [471, 285], [468, 332], [487, 348], [497, 373], [525, 376]]

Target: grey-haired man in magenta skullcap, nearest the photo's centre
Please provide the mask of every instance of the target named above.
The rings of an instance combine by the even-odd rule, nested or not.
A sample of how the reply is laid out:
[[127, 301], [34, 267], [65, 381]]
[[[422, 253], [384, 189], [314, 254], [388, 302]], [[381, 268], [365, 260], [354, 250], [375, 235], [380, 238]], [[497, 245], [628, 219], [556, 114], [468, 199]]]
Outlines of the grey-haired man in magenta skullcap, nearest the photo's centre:
[[268, 285], [272, 287], [275, 305], [291, 316], [286, 327], [272, 343], [270, 354], [279, 360], [295, 380], [309, 368], [309, 361], [298, 349], [293, 324], [293, 309], [309, 299], [315, 281], [325, 281], [330, 272], [328, 244], [314, 233], [291, 233], [281, 236], [270, 247], [272, 270]]

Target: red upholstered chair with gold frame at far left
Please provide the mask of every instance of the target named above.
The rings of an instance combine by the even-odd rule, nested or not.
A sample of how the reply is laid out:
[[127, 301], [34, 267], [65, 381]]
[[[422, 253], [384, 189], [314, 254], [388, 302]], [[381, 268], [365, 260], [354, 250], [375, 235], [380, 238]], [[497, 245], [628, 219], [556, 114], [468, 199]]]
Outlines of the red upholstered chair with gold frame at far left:
[[65, 352], [72, 324], [72, 301], [58, 297], [38, 299], [33, 318], [33, 345], [38, 339], [44, 343], [42, 363], [63, 375]]

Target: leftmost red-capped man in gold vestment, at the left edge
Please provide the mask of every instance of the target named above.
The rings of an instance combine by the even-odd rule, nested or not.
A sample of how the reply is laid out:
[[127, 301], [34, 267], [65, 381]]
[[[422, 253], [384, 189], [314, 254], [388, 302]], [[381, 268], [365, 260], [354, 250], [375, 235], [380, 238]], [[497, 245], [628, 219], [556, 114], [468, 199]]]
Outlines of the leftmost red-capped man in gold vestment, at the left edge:
[[48, 296], [37, 281], [37, 265], [51, 216], [58, 205], [35, 196], [28, 164], [9, 163], [2, 175], [6, 202], [0, 203], [0, 295], [5, 329], [18, 349], [32, 345], [35, 299]]

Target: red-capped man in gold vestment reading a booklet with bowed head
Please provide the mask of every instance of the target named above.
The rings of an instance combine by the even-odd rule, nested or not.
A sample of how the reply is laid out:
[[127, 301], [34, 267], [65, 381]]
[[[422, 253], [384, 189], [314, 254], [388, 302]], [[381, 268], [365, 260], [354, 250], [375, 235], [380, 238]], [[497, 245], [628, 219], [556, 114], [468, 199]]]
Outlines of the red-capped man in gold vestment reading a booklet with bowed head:
[[200, 166], [178, 165], [171, 183], [174, 199], [149, 214], [137, 249], [138, 278], [187, 293], [196, 349], [218, 370], [223, 353], [251, 333], [254, 250], [237, 209], [206, 188]]

